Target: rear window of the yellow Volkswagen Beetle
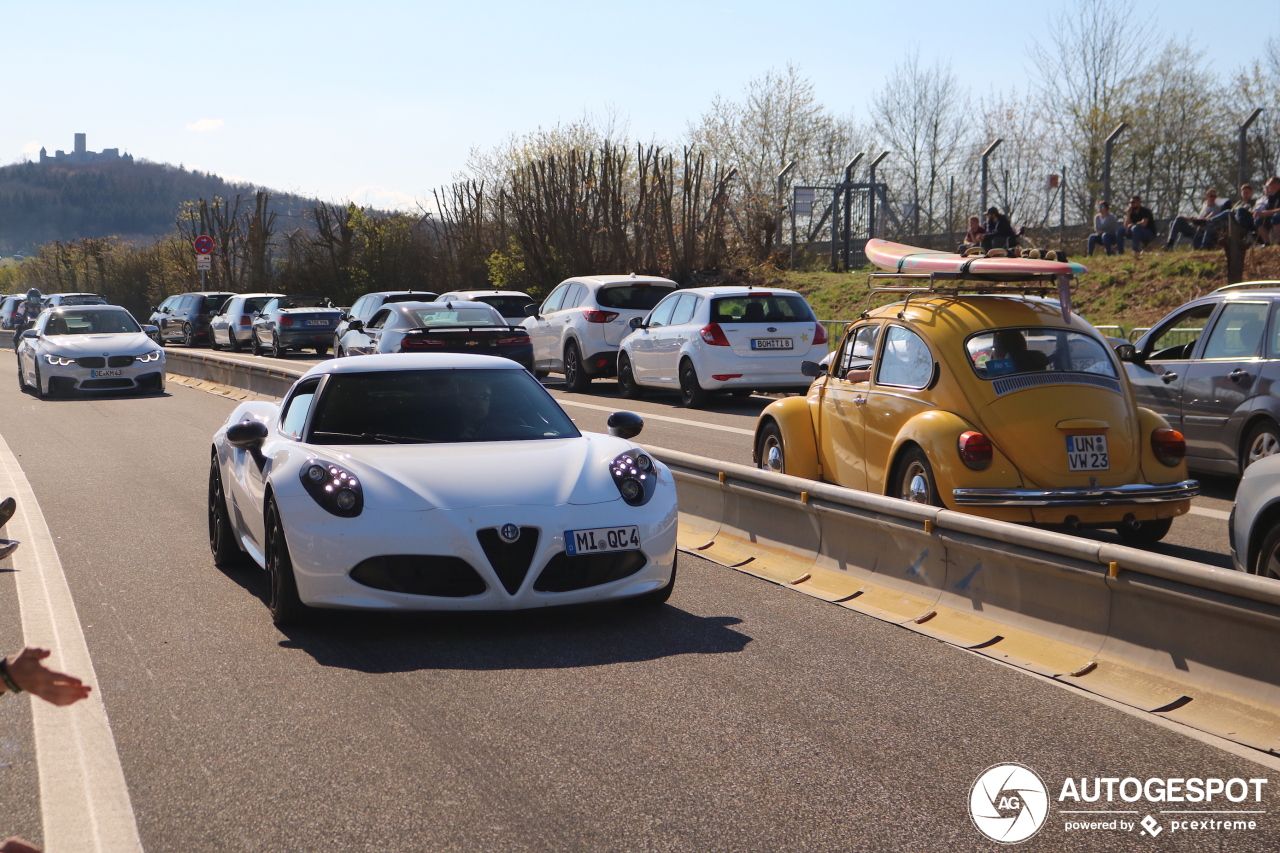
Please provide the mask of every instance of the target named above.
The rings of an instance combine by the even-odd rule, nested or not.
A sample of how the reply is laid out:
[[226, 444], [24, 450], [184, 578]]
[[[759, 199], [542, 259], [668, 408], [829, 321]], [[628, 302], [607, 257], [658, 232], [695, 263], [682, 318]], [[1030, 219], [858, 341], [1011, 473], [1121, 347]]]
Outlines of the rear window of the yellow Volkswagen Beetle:
[[1066, 329], [992, 329], [965, 341], [969, 364], [983, 379], [1015, 373], [1096, 373], [1115, 377], [1101, 341]]

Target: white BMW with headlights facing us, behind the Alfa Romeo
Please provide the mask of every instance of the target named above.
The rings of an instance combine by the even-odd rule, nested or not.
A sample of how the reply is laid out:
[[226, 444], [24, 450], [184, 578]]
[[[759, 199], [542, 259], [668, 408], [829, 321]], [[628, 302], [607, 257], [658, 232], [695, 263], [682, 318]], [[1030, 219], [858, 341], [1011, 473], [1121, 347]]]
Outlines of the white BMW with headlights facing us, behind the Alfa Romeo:
[[49, 309], [18, 341], [18, 387], [40, 397], [73, 391], [164, 391], [154, 325], [116, 305]]

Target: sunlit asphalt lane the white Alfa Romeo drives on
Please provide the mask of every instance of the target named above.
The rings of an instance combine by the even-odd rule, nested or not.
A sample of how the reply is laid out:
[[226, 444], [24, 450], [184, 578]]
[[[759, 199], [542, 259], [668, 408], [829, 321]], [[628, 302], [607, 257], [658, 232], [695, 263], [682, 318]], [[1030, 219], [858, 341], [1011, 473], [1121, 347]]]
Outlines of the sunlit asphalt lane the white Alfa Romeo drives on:
[[[1068, 776], [1280, 767], [687, 555], [655, 610], [333, 613], [282, 633], [261, 574], [209, 555], [209, 439], [233, 405], [0, 383], [0, 435], [58, 537], [152, 853], [998, 849], [966, 809], [997, 762], [1055, 800]], [[24, 699], [0, 698], [0, 834], [40, 841]], [[1157, 847], [1274, 847], [1274, 794], [1254, 831]], [[1137, 830], [1068, 833], [1064, 808], [1023, 849], [1152, 849]]]

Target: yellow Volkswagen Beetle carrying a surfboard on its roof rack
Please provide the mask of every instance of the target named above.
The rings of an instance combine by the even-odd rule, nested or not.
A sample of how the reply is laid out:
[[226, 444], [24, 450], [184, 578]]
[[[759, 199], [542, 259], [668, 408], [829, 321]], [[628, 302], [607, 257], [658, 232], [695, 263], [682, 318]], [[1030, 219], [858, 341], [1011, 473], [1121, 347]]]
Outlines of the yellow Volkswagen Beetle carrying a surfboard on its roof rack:
[[1056, 301], [927, 291], [805, 366], [808, 396], [760, 412], [763, 469], [1129, 544], [1158, 542], [1198, 493], [1183, 435]]

